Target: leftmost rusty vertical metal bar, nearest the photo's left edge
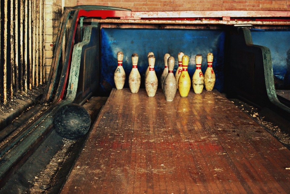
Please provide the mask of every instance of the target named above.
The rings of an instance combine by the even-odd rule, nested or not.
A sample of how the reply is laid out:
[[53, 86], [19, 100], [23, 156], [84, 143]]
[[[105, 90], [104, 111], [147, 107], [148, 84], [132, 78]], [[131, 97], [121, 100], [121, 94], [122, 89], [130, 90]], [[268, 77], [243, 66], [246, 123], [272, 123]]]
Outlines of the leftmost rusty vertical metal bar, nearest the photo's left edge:
[[3, 103], [7, 103], [7, 1], [4, 1]]

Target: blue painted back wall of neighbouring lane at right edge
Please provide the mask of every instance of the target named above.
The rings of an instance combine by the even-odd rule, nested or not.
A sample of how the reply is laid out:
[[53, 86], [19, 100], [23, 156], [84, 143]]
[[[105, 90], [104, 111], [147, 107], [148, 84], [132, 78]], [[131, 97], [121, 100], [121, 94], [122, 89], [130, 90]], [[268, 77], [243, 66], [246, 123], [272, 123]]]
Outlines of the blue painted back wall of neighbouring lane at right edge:
[[251, 34], [253, 44], [271, 51], [276, 89], [290, 89], [290, 31], [252, 29]]

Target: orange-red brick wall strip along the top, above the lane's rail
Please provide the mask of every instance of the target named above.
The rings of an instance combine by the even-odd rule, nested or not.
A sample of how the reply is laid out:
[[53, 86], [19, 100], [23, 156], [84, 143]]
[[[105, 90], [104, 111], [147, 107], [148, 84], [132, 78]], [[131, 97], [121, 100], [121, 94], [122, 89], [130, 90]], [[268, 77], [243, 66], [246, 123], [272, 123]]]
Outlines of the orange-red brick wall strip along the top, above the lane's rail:
[[290, 0], [77, 0], [77, 5], [105, 5], [132, 11], [290, 11]]

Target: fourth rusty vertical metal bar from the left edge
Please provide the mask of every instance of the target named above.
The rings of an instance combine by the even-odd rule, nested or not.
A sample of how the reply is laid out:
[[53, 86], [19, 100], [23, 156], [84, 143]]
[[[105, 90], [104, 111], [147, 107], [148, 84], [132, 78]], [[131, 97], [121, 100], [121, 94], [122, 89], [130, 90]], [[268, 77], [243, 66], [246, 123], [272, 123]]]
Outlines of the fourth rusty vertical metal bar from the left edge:
[[23, 92], [23, 11], [24, 1], [20, 0], [20, 91]]

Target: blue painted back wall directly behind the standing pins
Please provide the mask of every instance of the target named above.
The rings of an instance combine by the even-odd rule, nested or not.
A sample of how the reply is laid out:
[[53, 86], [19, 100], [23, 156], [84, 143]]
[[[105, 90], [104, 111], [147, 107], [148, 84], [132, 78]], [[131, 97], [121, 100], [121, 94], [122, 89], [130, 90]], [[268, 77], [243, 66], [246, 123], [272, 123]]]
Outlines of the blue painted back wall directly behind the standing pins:
[[[124, 53], [123, 67], [126, 72], [124, 87], [129, 87], [128, 76], [132, 69], [131, 55], [139, 55], [138, 70], [141, 74], [141, 88], [144, 88], [144, 73], [148, 67], [147, 53], [153, 52], [155, 71], [160, 78], [164, 62], [164, 54], [169, 53], [175, 58], [174, 74], [178, 67], [177, 54], [183, 52], [189, 57], [188, 73], [192, 78], [195, 71], [195, 55], [203, 57], [201, 70], [207, 68], [206, 55], [214, 55], [213, 69], [216, 74], [214, 89], [223, 92], [224, 85], [224, 39], [222, 30], [176, 30], [176, 29], [101, 29], [101, 90], [106, 91], [104, 85], [114, 84], [114, 71], [117, 67], [117, 53]], [[160, 86], [159, 86], [160, 87]]]

